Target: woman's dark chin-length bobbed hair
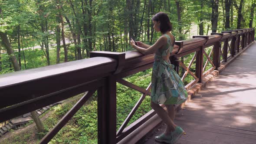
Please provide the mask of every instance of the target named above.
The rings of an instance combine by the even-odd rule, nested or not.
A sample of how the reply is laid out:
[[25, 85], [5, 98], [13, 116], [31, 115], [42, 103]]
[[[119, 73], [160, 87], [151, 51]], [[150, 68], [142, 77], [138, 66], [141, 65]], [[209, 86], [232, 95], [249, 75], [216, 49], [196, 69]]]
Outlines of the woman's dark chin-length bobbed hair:
[[172, 30], [172, 24], [166, 13], [159, 12], [152, 17], [153, 21], [160, 21], [161, 33], [170, 32]]

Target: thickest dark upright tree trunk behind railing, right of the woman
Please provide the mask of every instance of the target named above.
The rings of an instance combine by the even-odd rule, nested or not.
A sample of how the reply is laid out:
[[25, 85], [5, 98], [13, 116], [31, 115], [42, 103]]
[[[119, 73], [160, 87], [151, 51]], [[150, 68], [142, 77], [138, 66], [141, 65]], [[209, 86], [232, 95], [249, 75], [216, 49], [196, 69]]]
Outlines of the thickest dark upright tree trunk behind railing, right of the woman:
[[212, 33], [217, 32], [217, 26], [218, 26], [218, 17], [219, 17], [219, 0], [212, 0], [212, 16], [211, 16], [211, 22], [212, 22]]

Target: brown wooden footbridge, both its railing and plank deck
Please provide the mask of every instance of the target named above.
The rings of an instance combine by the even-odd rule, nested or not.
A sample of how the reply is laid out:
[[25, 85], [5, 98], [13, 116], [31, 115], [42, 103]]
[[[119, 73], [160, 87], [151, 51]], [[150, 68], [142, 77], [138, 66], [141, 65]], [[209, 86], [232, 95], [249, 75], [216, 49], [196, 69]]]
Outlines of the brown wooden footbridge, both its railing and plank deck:
[[[189, 99], [193, 99], [185, 106], [176, 105], [175, 122], [187, 132], [178, 143], [253, 144], [256, 139], [254, 34], [252, 28], [237, 29], [175, 42], [170, 57], [175, 70], [186, 71], [182, 80], [187, 75], [194, 78], [186, 85]], [[190, 64], [184, 65], [179, 58], [191, 53], [194, 56]], [[157, 144], [152, 131], [159, 134], [165, 125], [153, 110], [128, 125], [145, 96], [150, 95], [151, 86], [144, 89], [122, 79], [151, 68], [154, 54], [142, 56], [128, 51], [90, 55], [90, 59], [0, 75], [0, 98], [4, 100], [0, 102], [0, 122], [86, 92], [40, 141], [46, 144], [97, 90], [99, 144]], [[190, 69], [194, 62], [195, 71]], [[142, 93], [118, 131], [116, 82]]]

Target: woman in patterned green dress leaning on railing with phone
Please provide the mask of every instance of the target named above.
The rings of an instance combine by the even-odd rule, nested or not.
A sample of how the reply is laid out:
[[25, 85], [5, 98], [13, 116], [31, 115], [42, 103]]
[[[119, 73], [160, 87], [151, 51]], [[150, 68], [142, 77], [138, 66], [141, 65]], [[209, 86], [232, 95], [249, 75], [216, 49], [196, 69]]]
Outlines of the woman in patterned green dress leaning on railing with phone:
[[[182, 128], [173, 122], [174, 105], [187, 100], [187, 91], [169, 60], [175, 42], [174, 36], [170, 33], [172, 29], [170, 19], [166, 13], [159, 12], [152, 20], [156, 32], [161, 32], [157, 42], [149, 46], [131, 39], [131, 46], [144, 55], [155, 53], [151, 79], [151, 107], [167, 124], [165, 132], [155, 137], [155, 140], [174, 144], [184, 134]], [[159, 104], [164, 104], [167, 111]]]

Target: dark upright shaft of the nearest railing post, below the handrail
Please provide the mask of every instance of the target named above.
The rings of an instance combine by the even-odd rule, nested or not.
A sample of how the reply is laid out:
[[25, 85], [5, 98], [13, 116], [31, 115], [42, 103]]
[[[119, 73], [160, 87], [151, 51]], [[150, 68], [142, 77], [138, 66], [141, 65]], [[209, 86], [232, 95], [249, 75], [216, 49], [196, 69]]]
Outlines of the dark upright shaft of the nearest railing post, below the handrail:
[[98, 88], [98, 144], [116, 144], [116, 80], [106, 78]]

